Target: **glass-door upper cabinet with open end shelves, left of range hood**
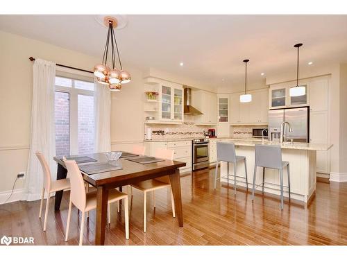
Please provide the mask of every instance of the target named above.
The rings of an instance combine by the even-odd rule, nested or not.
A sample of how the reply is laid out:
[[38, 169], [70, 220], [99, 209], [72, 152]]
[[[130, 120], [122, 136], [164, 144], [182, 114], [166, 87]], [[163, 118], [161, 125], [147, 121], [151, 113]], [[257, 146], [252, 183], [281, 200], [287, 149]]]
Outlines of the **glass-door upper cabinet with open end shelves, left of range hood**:
[[146, 123], [183, 123], [183, 85], [146, 78], [145, 93]]

